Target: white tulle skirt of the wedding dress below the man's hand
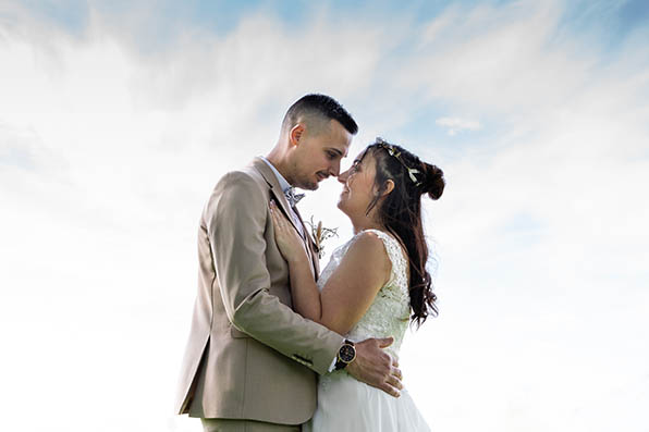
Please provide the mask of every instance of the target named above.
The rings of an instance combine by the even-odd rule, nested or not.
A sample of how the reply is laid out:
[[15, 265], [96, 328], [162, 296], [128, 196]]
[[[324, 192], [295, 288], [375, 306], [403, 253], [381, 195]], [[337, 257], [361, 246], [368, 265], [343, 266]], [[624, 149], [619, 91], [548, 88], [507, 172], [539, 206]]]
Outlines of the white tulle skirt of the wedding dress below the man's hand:
[[429, 432], [404, 388], [400, 397], [356, 381], [344, 371], [320, 377], [318, 408], [305, 432]]

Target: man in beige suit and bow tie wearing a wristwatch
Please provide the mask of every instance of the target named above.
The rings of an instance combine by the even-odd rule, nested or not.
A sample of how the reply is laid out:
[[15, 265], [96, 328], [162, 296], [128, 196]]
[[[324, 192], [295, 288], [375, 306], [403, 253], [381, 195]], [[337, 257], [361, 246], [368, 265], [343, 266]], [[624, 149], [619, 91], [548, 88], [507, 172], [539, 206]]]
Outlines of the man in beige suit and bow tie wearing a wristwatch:
[[316, 373], [334, 369], [399, 395], [401, 371], [382, 349], [391, 338], [354, 345], [293, 311], [269, 213], [274, 200], [303, 237], [317, 277], [318, 252], [292, 186], [315, 190], [338, 176], [357, 129], [334, 99], [307, 95], [286, 112], [270, 153], [225, 174], [205, 206], [176, 412], [199, 417], [206, 431], [299, 431], [316, 408]]

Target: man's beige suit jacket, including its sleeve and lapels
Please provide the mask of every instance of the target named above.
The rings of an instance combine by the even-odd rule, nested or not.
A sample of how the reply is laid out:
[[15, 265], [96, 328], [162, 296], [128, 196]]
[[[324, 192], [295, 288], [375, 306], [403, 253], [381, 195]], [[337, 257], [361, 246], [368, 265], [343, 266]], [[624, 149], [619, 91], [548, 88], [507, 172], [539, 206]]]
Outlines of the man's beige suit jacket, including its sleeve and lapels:
[[[343, 337], [293, 311], [270, 199], [290, 214], [274, 173], [256, 158], [225, 174], [203, 211], [177, 414], [299, 424], [315, 411], [314, 372], [328, 371]], [[318, 274], [315, 245], [304, 232]]]

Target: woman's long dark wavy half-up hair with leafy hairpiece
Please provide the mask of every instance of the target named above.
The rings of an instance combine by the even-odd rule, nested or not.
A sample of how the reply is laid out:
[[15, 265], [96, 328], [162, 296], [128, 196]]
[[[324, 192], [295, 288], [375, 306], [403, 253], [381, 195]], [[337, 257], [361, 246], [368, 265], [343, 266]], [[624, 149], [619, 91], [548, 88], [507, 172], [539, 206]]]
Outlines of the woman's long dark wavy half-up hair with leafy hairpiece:
[[[367, 214], [378, 206], [379, 222], [406, 249], [411, 270], [411, 322], [419, 326], [429, 316], [438, 316], [437, 296], [426, 269], [428, 245], [421, 224], [421, 195], [428, 194], [431, 199], [439, 199], [444, 192], [444, 173], [406, 149], [381, 138], [365, 149], [360, 160], [368, 153], [376, 160], [375, 185], [378, 194], [369, 203]], [[394, 189], [381, 199], [389, 180], [394, 182]]]

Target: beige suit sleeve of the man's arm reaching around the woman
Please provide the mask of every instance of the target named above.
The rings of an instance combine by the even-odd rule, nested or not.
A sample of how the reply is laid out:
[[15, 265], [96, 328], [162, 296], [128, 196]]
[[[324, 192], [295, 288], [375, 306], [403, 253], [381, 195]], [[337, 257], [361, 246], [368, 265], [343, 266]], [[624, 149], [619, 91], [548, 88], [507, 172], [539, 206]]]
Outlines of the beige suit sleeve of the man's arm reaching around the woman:
[[322, 374], [343, 337], [309, 321], [269, 293], [268, 202], [254, 178], [225, 175], [204, 213], [223, 305], [240, 331]]

